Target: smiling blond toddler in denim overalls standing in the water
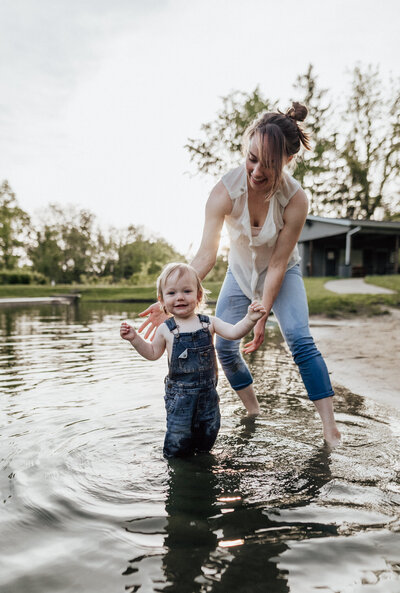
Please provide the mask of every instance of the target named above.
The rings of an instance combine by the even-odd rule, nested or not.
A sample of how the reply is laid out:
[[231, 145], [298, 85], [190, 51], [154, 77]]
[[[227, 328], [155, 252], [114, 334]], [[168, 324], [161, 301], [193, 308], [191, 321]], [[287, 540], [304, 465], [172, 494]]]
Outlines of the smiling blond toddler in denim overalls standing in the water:
[[208, 452], [220, 427], [213, 335], [227, 340], [242, 338], [266, 311], [254, 301], [236, 325], [196, 314], [204, 301], [204, 288], [196, 271], [183, 263], [164, 267], [157, 280], [157, 293], [162, 308], [171, 317], [157, 328], [154, 340], [146, 342], [126, 322], [121, 324], [121, 337], [148, 360], [157, 360], [167, 350], [164, 456]]

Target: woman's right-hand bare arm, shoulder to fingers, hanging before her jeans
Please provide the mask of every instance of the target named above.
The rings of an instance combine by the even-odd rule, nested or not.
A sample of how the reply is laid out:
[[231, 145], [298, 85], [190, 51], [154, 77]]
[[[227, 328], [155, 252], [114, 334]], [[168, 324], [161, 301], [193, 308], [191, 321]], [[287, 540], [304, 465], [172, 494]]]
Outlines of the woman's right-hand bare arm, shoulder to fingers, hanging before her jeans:
[[300, 237], [307, 213], [308, 199], [305, 192], [299, 189], [283, 212], [284, 226], [278, 235], [275, 249], [268, 264], [261, 301], [265, 307], [266, 315], [257, 322], [254, 328], [253, 340], [244, 345], [243, 351], [245, 353], [257, 350], [264, 340], [265, 324], [268, 315], [282, 286], [290, 254]]

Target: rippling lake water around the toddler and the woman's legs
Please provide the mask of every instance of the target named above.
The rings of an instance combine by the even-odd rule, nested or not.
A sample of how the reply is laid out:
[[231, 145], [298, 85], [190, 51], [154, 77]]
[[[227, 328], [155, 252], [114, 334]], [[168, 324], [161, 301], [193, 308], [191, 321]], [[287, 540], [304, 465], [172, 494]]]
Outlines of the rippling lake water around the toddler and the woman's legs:
[[399, 593], [399, 412], [340, 390], [327, 450], [270, 323], [260, 417], [221, 374], [212, 454], [167, 462], [135, 307], [0, 310], [0, 591]]

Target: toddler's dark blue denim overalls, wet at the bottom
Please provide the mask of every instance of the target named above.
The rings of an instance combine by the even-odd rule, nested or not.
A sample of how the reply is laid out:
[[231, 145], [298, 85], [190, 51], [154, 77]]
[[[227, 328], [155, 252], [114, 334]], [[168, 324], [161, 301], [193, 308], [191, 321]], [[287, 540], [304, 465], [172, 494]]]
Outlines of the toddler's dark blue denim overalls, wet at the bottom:
[[217, 361], [210, 319], [207, 315], [198, 318], [202, 329], [187, 333], [179, 333], [173, 317], [164, 322], [174, 334], [169, 374], [165, 378], [165, 457], [210, 451], [220, 427]]

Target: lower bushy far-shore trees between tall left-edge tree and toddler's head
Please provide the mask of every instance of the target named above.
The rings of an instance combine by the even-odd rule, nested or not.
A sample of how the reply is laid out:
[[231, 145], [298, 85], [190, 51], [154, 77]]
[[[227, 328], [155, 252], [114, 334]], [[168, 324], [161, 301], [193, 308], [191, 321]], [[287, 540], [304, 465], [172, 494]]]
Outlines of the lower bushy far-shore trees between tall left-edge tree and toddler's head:
[[41, 220], [28, 255], [34, 269], [57, 284], [146, 283], [165, 263], [183, 259], [164, 239], [145, 237], [141, 227], [110, 229], [107, 237], [96, 228], [93, 213], [75, 206], [50, 204]]

